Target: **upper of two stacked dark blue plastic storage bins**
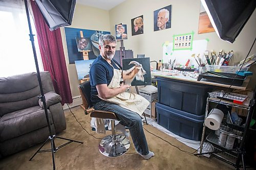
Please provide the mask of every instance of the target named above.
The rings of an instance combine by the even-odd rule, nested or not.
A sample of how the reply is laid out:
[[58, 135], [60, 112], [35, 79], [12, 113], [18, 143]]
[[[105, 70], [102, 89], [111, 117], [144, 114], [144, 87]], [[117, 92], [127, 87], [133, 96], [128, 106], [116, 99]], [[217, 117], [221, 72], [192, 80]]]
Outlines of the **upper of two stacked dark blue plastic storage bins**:
[[188, 113], [205, 113], [208, 85], [157, 77], [158, 102]]

